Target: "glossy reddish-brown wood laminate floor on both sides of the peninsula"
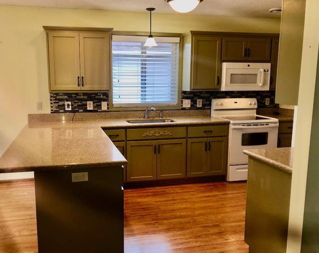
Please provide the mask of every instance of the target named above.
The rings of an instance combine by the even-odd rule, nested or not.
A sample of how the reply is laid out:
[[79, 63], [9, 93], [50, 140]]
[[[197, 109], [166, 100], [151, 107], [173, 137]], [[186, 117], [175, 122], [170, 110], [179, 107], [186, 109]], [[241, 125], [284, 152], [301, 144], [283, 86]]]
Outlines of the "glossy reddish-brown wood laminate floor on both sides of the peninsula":
[[[125, 253], [248, 253], [246, 183], [125, 190]], [[34, 182], [0, 183], [0, 253], [37, 252]]]

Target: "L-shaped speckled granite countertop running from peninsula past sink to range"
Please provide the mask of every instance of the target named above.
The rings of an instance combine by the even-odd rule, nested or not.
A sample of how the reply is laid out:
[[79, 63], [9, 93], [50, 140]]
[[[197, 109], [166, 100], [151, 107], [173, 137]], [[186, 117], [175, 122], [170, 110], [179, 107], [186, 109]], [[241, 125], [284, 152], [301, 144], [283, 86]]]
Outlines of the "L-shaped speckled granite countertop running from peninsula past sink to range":
[[127, 119], [28, 123], [0, 157], [0, 172], [120, 166], [127, 163], [103, 128], [228, 124], [210, 116], [169, 117], [171, 123], [131, 124]]

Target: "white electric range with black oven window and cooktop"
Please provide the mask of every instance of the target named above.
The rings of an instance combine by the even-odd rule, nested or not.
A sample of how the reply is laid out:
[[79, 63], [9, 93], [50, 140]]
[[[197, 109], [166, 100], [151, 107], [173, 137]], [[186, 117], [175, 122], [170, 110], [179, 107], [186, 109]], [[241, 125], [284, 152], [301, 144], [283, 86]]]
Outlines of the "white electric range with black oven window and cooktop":
[[256, 114], [256, 98], [212, 99], [211, 116], [230, 121], [227, 181], [247, 180], [247, 149], [276, 148], [278, 119]]

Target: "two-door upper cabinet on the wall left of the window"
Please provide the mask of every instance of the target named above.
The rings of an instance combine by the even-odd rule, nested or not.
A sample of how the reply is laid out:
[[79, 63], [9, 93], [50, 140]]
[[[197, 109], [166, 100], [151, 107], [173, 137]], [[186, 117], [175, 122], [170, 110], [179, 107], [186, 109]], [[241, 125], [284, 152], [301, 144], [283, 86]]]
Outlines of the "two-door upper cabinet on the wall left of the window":
[[110, 89], [110, 31], [46, 31], [51, 91]]

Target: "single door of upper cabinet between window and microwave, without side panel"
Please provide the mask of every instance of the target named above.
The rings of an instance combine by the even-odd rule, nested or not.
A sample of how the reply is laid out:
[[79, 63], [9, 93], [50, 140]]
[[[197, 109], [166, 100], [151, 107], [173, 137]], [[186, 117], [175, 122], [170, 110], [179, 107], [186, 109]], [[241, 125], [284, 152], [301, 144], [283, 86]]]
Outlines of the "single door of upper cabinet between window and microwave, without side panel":
[[221, 38], [193, 36], [192, 89], [218, 89]]

